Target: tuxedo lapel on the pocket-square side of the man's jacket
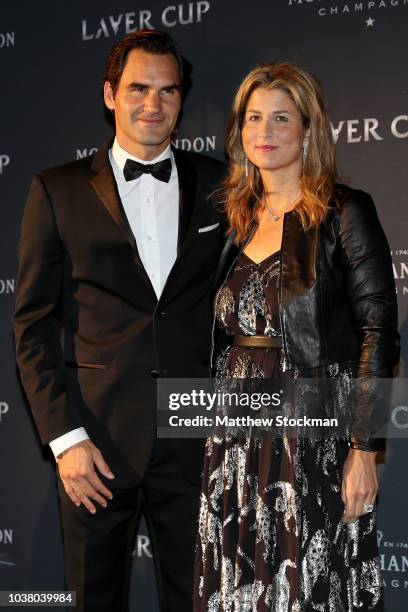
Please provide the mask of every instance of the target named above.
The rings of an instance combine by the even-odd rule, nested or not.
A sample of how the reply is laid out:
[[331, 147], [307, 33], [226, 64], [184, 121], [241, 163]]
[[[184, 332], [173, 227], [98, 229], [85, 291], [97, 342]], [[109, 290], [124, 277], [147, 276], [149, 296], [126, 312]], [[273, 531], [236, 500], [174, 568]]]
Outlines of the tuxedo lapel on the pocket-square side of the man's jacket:
[[173, 148], [173, 154], [179, 181], [179, 230], [177, 238], [177, 257], [179, 257], [191, 225], [197, 179], [193, 168], [186, 161], [183, 154], [175, 148]]

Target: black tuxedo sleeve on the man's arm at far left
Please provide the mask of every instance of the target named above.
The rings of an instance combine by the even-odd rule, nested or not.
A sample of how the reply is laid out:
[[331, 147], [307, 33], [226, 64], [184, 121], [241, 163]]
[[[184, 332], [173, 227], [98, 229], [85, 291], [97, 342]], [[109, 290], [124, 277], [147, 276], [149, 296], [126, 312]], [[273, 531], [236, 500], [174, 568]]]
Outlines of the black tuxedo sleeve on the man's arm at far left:
[[21, 226], [14, 331], [21, 380], [43, 444], [81, 425], [68, 406], [61, 345], [65, 256], [50, 197], [37, 176]]

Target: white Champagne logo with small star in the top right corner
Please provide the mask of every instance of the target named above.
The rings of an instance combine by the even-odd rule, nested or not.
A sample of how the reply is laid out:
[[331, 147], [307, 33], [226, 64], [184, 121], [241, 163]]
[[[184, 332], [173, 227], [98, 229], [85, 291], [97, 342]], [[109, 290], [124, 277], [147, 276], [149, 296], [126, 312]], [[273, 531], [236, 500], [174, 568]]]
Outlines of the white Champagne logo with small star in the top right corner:
[[408, 6], [408, 0], [365, 0], [335, 2], [333, 0], [286, 0], [289, 6], [313, 10], [319, 17], [358, 16], [367, 28], [373, 28], [384, 9]]

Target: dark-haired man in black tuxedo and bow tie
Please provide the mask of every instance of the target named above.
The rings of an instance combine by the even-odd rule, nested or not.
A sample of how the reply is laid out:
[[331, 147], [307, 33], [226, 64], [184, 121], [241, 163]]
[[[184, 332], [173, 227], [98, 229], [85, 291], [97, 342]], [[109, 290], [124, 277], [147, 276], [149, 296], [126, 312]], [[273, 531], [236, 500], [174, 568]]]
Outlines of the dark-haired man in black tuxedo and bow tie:
[[66, 585], [86, 612], [128, 609], [142, 502], [161, 610], [192, 608], [203, 447], [156, 438], [156, 383], [208, 376], [223, 242], [208, 196], [224, 168], [170, 144], [182, 76], [167, 34], [120, 41], [104, 86], [113, 143], [36, 176], [24, 211], [17, 360], [57, 461]]

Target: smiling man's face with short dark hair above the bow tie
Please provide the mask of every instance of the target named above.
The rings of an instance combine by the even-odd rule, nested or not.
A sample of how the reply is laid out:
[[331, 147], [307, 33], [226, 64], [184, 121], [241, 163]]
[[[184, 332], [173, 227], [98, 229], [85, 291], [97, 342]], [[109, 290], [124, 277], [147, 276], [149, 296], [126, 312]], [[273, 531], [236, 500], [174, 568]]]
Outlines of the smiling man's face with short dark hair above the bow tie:
[[120, 146], [141, 159], [153, 159], [170, 143], [181, 108], [175, 57], [133, 49], [115, 94], [105, 83], [104, 99], [115, 112]]

